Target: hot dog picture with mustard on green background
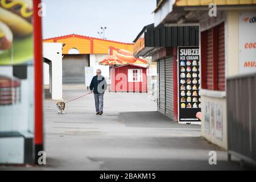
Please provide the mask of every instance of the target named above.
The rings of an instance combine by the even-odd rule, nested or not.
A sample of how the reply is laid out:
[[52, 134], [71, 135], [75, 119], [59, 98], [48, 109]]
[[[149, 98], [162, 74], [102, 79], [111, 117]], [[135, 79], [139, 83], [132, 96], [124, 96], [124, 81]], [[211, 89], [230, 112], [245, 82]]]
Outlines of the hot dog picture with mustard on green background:
[[0, 1], [0, 65], [32, 59], [32, 14], [32, 0]]

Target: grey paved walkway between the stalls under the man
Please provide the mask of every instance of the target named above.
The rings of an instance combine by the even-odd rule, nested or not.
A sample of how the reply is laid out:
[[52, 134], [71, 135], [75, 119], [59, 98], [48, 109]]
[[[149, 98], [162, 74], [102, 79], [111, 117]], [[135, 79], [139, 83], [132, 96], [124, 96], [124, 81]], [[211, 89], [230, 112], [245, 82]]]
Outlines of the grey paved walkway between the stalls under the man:
[[[64, 85], [64, 101], [87, 91]], [[57, 114], [56, 101], [46, 100], [47, 165], [20, 169], [71, 170], [230, 170], [226, 152], [200, 138], [200, 126], [181, 125], [156, 111], [143, 93], [105, 93], [104, 114], [96, 115], [93, 95], [69, 102]], [[217, 165], [209, 165], [209, 151]], [[17, 168], [16, 168], [17, 169]]]

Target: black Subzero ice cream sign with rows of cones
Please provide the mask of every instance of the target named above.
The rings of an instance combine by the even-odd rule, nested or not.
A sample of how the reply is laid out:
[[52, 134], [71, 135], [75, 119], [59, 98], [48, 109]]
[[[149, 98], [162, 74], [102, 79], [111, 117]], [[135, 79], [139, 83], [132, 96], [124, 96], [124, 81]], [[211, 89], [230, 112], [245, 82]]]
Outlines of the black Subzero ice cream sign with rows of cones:
[[179, 122], [200, 122], [199, 47], [178, 47]]

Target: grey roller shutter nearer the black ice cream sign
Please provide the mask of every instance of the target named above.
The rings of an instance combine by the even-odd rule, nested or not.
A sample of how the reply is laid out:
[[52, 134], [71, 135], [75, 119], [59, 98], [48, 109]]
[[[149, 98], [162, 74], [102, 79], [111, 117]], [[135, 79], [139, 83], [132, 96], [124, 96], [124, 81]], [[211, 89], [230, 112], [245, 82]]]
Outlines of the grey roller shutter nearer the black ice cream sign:
[[174, 118], [173, 57], [166, 59], [166, 115]]

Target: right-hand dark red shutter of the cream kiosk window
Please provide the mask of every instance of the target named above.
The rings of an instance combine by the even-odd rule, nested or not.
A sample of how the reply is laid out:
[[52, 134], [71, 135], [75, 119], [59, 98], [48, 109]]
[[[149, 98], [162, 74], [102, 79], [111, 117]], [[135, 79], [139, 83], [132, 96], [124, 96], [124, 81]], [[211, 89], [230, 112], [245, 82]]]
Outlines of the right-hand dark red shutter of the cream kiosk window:
[[218, 81], [217, 88], [225, 90], [225, 28], [224, 23], [218, 26]]

